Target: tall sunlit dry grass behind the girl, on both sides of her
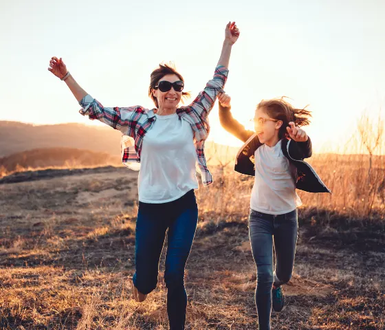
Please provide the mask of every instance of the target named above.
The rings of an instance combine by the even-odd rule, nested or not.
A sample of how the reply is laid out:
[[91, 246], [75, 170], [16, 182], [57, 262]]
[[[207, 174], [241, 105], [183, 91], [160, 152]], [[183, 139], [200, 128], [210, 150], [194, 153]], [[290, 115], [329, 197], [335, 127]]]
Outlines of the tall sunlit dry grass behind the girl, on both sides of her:
[[[234, 155], [214, 161], [214, 184], [199, 189], [199, 205], [205, 210], [220, 210], [225, 217], [244, 213], [250, 205], [254, 177], [234, 173]], [[229, 160], [230, 159], [230, 160]], [[332, 194], [312, 194], [298, 190], [302, 209], [333, 213], [348, 219], [377, 221], [385, 219], [385, 135], [384, 120], [363, 113], [347, 144], [336, 153], [320, 153], [305, 159], [313, 166]]]

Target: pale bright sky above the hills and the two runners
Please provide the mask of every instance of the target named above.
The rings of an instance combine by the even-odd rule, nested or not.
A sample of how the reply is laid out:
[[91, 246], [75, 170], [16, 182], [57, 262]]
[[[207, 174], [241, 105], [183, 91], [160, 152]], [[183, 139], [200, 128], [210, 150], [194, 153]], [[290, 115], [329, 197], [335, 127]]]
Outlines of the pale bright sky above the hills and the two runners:
[[[192, 96], [217, 65], [235, 21], [228, 83], [236, 119], [250, 126], [262, 99], [288, 96], [312, 111], [315, 152], [347, 141], [362, 111], [385, 109], [385, 1], [0, 1], [0, 120], [100, 124], [78, 113], [52, 56], [105, 107], [140, 104], [150, 74], [173, 61]], [[210, 113], [210, 140], [239, 146]]]

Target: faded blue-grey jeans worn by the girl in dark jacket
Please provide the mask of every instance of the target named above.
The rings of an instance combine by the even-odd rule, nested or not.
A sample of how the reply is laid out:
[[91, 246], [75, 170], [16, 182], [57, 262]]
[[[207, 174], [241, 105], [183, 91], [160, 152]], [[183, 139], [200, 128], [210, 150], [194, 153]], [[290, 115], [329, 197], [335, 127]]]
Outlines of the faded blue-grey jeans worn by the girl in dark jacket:
[[[298, 239], [297, 210], [272, 215], [250, 209], [249, 235], [256, 263], [255, 303], [260, 330], [270, 330], [272, 286], [292, 278]], [[273, 236], [276, 271], [273, 271]]]

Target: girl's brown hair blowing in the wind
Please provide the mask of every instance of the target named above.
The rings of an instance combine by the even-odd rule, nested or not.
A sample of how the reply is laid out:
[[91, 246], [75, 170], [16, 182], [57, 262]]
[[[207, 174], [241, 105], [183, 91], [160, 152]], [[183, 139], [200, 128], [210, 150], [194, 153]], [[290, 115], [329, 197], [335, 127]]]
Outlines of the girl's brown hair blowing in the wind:
[[306, 110], [306, 107], [303, 109], [296, 109], [285, 100], [285, 96], [282, 98], [272, 98], [271, 100], [261, 100], [256, 106], [256, 109], [264, 108], [266, 109], [267, 115], [270, 118], [276, 120], [282, 120], [283, 124], [278, 132], [278, 137], [282, 139], [287, 137], [287, 129], [289, 122], [294, 122], [296, 126], [306, 126], [310, 124], [309, 118], [311, 117], [311, 112]]

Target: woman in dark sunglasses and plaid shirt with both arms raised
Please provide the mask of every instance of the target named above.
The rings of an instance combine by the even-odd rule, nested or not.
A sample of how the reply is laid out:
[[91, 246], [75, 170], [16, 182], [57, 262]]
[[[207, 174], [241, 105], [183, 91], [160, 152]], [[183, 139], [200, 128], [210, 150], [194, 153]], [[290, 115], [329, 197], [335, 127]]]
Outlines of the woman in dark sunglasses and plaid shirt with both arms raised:
[[196, 162], [203, 185], [212, 183], [203, 152], [210, 126], [208, 114], [228, 76], [232, 45], [239, 37], [235, 23], [225, 28], [225, 40], [214, 77], [187, 107], [178, 107], [186, 93], [184, 79], [173, 67], [159, 65], [151, 73], [148, 95], [155, 109], [103, 107], [74, 80], [60, 58], [48, 68], [65, 83], [82, 106], [80, 113], [100, 120], [122, 132], [122, 161], [137, 168], [139, 210], [136, 222], [133, 298], [138, 302], [157, 286], [159, 258], [166, 231], [168, 247], [164, 281], [170, 329], [184, 329], [187, 294], [184, 268], [197, 227], [198, 209], [194, 190], [198, 188]]

